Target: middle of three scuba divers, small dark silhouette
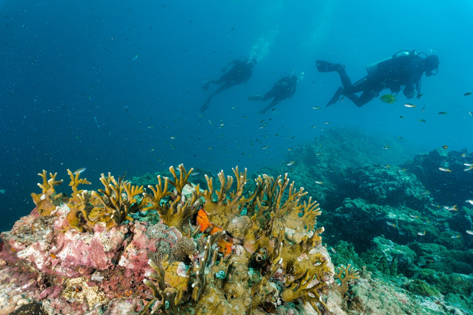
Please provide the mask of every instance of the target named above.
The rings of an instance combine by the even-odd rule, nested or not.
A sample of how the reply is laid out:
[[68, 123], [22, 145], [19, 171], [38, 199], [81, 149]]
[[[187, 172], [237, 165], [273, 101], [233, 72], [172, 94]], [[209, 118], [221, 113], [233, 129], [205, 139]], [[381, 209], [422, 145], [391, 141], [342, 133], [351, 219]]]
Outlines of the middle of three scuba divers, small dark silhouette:
[[273, 88], [264, 95], [251, 95], [248, 96], [248, 100], [262, 100], [265, 101], [271, 97], [274, 97], [269, 105], [264, 107], [259, 113], [265, 113], [268, 109], [276, 106], [281, 100], [291, 98], [296, 92], [296, 85], [298, 82], [297, 75], [284, 75], [276, 83]]

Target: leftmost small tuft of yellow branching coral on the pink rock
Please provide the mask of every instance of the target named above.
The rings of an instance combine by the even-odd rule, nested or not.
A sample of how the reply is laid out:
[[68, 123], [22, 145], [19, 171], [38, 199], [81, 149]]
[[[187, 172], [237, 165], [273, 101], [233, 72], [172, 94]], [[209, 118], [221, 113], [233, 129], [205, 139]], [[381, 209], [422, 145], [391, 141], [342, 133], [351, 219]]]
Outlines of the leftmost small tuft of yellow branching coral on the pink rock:
[[[57, 193], [54, 186], [59, 185], [63, 180], [56, 180], [58, 173], [49, 173], [50, 178], [48, 179], [46, 170], [43, 169], [42, 173], [38, 173], [43, 177], [43, 183], [38, 183], [42, 193], [32, 193], [33, 201], [36, 204], [36, 208], [41, 215], [51, 215], [51, 212], [56, 210], [56, 206], [60, 203], [60, 199], [63, 197], [62, 193]], [[59, 202], [58, 202], [59, 201]]]

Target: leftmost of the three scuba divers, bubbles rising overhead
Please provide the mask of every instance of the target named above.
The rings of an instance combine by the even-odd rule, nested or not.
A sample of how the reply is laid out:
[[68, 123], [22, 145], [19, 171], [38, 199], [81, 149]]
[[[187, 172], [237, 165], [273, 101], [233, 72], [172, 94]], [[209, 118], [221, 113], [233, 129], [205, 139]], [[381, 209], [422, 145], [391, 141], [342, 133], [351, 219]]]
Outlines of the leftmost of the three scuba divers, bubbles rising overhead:
[[222, 68], [222, 72], [225, 72], [227, 70], [227, 67], [230, 64], [234, 64], [230, 70], [228, 70], [227, 73], [223, 74], [220, 76], [219, 79], [217, 80], [210, 80], [207, 81], [204, 85], [202, 85], [202, 88], [205, 90], [208, 90], [210, 87], [211, 83], [214, 84], [222, 84], [220, 87], [218, 87], [213, 93], [207, 97], [207, 100], [204, 102], [202, 107], [200, 108], [200, 111], [205, 112], [207, 108], [209, 107], [210, 100], [212, 97], [223, 91], [224, 89], [227, 89], [233, 85], [237, 85], [240, 83], [243, 83], [248, 81], [253, 74], [253, 67], [256, 65], [257, 60], [255, 58], [251, 58], [250, 60], [247, 59], [235, 59], [227, 63]]

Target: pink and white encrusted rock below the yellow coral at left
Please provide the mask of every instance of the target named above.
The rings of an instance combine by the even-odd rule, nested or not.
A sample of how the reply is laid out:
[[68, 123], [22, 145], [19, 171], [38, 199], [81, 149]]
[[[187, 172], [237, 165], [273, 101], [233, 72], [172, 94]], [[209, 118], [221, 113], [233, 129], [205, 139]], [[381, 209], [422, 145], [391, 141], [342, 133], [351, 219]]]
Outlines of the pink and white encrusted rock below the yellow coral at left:
[[[43, 301], [50, 313], [88, 313], [105, 301], [113, 307], [108, 313], [133, 313], [150, 299], [142, 284], [150, 269], [148, 253], [156, 251], [158, 242], [173, 246], [182, 236], [163, 224], [161, 237], [150, 238], [148, 222], [138, 220], [110, 230], [96, 224], [92, 232], [80, 232], [69, 225], [68, 213], [66, 204], [51, 216], [35, 208], [2, 232], [0, 315], [30, 301]], [[84, 297], [79, 295], [83, 291]]]

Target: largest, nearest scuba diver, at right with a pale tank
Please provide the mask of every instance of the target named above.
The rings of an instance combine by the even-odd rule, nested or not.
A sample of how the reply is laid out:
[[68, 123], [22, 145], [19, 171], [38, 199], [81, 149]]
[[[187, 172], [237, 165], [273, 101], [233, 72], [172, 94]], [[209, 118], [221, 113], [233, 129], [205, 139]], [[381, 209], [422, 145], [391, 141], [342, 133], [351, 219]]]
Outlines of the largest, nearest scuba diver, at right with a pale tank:
[[[422, 58], [419, 55], [424, 54]], [[316, 61], [319, 72], [337, 71], [340, 75], [343, 87], [339, 87], [327, 106], [334, 104], [340, 95], [345, 95], [356, 106], [360, 107], [379, 95], [383, 89], [388, 88], [391, 93], [397, 94], [401, 89], [407, 98], [417, 96], [420, 98], [420, 78], [425, 72], [426, 76], [435, 75], [438, 72], [438, 57], [434, 54], [419, 54], [415, 50], [401, 50], [392, 56], [379, 62], [366, 66], [368, 75], [351, 84], [346, 74], [345, 66], [340, 63], [331, 63], [323, 60]], [[436, 70], [435, 73], [432, 73]], [[362, 92], [361, 95], [355, 93]]]

